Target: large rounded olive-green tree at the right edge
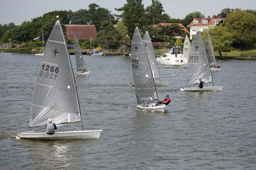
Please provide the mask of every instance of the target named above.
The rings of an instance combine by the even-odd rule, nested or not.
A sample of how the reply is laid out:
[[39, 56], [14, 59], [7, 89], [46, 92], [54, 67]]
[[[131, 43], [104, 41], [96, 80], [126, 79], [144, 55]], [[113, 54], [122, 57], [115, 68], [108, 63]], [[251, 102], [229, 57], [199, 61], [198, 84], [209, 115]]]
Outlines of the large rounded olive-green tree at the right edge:
[[233, 46], [244, 47], [256, 42], [256, 17], [246, 11], [234, 11], [227, 15], [223, 24], [231, 34]]

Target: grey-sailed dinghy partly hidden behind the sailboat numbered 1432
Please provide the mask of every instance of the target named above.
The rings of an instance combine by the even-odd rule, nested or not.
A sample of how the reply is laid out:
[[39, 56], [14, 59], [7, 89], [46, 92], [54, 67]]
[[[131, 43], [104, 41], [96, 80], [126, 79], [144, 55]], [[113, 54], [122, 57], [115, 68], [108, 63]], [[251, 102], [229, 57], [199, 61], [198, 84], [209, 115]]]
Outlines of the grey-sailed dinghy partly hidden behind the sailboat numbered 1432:
[[145, 50], [146, 50], [146, 53], [148, 56], [148, 61], [150, 64], [150, 68], [152, 70], [153, 78], [154, 78], [154, 80], [159, 79], [159, 81], [155, 81], [155, 85], [156, 86], [167, 86], [169, 84], [169, 82], [160, 81], [160, 75], [159, 75], [158, 66], [157, 66], [157, 62], [156, 62], [156, 56], [154, 53], [154, 49], [153, 49], [148, 31], [145, 33], [144, 37], [142, 38], [142, 42], [145, 46]]

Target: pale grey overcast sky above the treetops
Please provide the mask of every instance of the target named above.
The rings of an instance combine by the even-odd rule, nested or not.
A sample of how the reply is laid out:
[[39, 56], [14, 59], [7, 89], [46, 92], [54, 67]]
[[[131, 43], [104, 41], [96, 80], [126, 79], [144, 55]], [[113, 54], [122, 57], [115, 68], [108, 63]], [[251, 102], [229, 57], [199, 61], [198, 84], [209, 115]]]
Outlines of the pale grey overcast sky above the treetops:
[[[183, 19], [190, 12], [199, 11], [208, 15], [217, 15], [224, 8], [256, 9], [256, 0], [160, 0], [164, 13], [171, 18]], [[14, 22], [20, 25], [23, 21], [43, 16], [54, 10], [88, 9], [88, 5], [96, 3], [107, 8], [113, 14], [119, 14], [115, 8], [122, 7], [126, 0], [0, 0], [0, 23]], [[144, 8], [151, 5], [151, 0], [143, 0]]]

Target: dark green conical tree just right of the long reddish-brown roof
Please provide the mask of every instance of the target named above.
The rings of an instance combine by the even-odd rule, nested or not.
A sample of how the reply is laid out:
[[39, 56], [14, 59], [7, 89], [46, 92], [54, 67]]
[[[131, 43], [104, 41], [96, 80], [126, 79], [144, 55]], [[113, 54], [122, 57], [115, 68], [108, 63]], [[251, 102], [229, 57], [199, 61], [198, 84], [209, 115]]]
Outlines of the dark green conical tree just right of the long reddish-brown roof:
[[101, 47], [118, 46], [118, 32], [111, 21], [101, 21], [100, 31], [94, 39], [95, 43]]

